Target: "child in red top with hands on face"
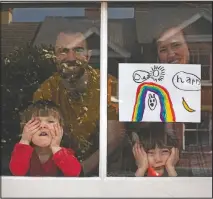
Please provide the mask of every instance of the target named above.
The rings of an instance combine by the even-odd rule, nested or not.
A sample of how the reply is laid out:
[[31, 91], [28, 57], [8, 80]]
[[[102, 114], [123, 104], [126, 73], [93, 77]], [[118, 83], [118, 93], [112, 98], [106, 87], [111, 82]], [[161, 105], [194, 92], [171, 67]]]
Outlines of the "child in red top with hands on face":
[[14, 147], [10, 171], [15, 176], [79, 176], [81, 164], [61, 147], [63, 117], [50, 101], [37, 101], [22, 113], [21, 140]]

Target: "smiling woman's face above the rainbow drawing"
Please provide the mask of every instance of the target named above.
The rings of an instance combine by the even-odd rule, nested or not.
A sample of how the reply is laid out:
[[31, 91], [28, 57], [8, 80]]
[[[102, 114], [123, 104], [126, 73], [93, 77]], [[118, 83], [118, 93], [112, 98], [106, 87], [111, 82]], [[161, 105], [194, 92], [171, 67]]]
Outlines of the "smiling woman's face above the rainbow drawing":
[[161, 63], [188, 64], [189, 50], [182, 32], [169, 29], [157, 41], [158, 57]]

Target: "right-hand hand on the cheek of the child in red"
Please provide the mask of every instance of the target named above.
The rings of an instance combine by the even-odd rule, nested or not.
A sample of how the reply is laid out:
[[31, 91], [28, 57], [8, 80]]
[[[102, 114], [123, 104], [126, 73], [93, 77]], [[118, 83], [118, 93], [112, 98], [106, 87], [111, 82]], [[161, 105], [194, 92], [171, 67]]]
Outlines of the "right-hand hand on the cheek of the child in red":
[[63, 137], [63, 128], [59, 125], [59, 123], [53, 124], [53, 128], [50, 130], [52, 135], [52, 141], [50, 144], [50, 148], [54, 153], [61, 149], [61, 139]]

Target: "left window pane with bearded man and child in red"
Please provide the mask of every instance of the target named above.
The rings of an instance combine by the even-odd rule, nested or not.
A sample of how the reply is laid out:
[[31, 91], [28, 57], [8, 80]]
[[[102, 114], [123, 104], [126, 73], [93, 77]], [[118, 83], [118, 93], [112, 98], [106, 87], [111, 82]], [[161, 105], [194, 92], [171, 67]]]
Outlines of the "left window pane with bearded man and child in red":
[[[70, 5], [69, 15], [60, 16], [69, 9], [66, 5], [48, 16], [51, 8], [38, 5], [31, 11], [46, 9], [40, 21], [37, 15], [29, 15], [30, 8], [8, 6], [2, 11], [1, 24], [2, 174], [97, 176], [99, 8], [91, 5], [77, 14], [79, 9]], [[28, 22], [21, 21], [24, 14]], [[22, 112], [25, 120], [19, 117]]]

